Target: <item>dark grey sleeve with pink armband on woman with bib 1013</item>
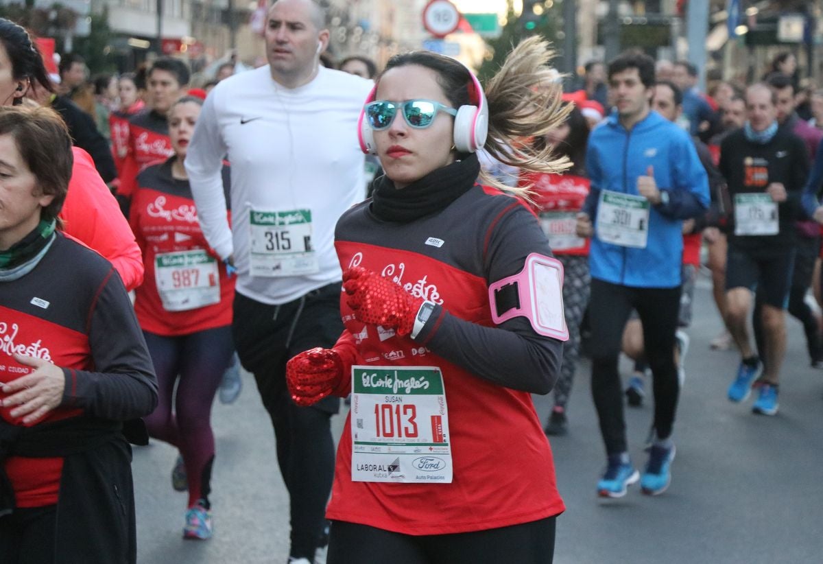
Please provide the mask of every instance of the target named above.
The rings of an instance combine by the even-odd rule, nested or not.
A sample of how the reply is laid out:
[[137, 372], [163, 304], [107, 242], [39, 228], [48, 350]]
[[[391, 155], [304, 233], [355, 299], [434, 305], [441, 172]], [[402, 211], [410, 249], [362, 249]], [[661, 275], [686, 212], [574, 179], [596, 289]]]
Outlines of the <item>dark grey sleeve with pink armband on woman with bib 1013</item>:
[[[551, 256], [537, 220], [519, 203], [493, 229], [485, 261], [490, 286], [523, 270], [528, 254]], [[560, 375], [563, 343], [536, 333], [524, 317], [484, 327], [450, 315], [438, 305], [415, 340], [479, 378], [506, 388], [548, 394]]]

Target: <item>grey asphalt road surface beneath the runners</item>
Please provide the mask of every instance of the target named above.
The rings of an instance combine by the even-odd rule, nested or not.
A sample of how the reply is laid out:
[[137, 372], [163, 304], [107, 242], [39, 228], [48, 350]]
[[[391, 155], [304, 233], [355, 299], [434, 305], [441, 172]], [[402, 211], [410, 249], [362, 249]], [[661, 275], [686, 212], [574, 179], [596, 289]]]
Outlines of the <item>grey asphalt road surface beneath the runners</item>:
[[[636, 486], [621, 500], [595, 496], [605, 454], [588, 363], [579, 366], [570, 434], [551, 439], [567, 507], [557, 521], [555, 562], [823, 562], [823, 371], [809, 367], [802, 329], [789, 319], [778, 416], [753, 415], [751, 399], [729, 403], [736, 353], [709, 350], [720, 322], [705, 282], [695, 302], [675, 426], [677, 459], [672, 486], [662, 496], [644, 496]], [[535, 397], [535, 405], [545, 420], [551, 399]], [[649, 405], [626, 410], [630, 454], [639, 466], [651, 417]], [[335, 418], [337, 435], [343, 422]], [[187, 497], [171, 489], [174, 450], [157, 441], [135, 450], [138, 562], [286, 562], [288, 500], [272, 426], [250, 375], [244, 374], [237, 403], [215, 403], [213, 423], [210, 541], [181, 538]]]

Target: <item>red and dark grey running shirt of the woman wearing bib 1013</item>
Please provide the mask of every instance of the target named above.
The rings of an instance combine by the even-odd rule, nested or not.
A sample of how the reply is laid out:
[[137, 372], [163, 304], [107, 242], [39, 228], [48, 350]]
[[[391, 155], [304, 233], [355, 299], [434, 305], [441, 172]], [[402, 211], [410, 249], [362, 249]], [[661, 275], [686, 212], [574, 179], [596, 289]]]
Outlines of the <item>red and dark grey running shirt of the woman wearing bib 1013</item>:
[[412, 340], [357, 321], [343, 294], [346, 330], [337, 346], [365, 366], [440, 368], [454, 474], [448, 484], [353, 482], [347, 421], [328, 519], [423, 535], [562, 512], [551, 447], [530, 394], [551, 390], [561, 343], [535, 333], [523, 317], [495, 327], [489, 304], [491, 283], [520, 272], [532, 252], [551, 255], [530, 209], [480, 185], [408, 223], [376, 217], [366, 200], [343, 214], [335, 240], [344, 270], [359, 265], [437, 304]]

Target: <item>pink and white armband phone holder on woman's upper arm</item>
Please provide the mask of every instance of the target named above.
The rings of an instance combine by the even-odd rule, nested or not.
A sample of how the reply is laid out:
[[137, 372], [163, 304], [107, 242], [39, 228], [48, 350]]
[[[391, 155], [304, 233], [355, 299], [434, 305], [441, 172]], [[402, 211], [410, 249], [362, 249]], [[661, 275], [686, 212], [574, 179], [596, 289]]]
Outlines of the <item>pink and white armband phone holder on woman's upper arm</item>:
[[489, 287], [489, 304], [495, 324], [521, 316], [536, 333], [569, 340], [563, 311], [563, 265], [557, 259], [529, 254], [523, 270]]

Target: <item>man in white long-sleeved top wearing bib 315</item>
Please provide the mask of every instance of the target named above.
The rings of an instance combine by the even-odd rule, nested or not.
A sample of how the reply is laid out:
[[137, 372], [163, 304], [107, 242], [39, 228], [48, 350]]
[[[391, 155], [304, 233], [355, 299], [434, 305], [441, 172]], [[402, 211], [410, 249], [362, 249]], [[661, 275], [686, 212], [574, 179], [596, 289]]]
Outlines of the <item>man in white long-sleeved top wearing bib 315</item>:
[[[326, 14], [312, 0], [267, 13], [268, 66], [220, 82], [194, 130], [186, 170], [202, 231], [238, 273], [235, 347], [272, 417], [291, 497], [290, 562], [313, 562], [332, 485], [338, 400], [291, 402], [286, 361], [340, 333], [337, 218], [360, 199], [357, 119], [372, 82], [323, 68]], [[232, 225], [221, 161], [231, 163]]]

